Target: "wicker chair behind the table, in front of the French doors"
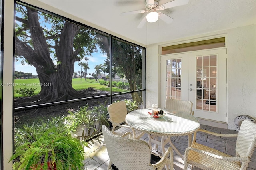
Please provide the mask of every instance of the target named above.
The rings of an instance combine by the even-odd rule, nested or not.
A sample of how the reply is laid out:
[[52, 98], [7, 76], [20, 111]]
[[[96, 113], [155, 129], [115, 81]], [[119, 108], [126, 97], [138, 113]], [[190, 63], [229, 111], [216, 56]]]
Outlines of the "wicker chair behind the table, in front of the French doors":
[[[182, 111], [184, 113], [188, 113], [190, 115], [194, 115], [194, 111], [192, 111], [193, 103], [191, 101], [185, 101], [185, 100], [176, 100], [176, 99], [166, 99], [165, 100], [165, 109], [171, 109], [175, 111]], [[156, 135], [150, 135], [148, 134], [148, 144], [151, 144], [151, 142], [155, 143], [154, 149], [158, 148], [158, 137], [162, 136], [156, 136]], [[154, 142], [155, 141], [155, 142]], [[188, 135], [188, 146], [191, 145], [192, 142], [192, 134]], [[164, 142], [166, 143], [166, 142]]]

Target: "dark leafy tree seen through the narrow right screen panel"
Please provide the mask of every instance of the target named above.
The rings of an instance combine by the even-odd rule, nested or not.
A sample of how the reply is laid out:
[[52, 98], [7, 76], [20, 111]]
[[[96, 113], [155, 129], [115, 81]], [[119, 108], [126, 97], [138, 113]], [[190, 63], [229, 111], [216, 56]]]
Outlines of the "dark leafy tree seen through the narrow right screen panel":
[[[100, 49], [108, 56], [105, 65], [109, 65], [109, 40], [98, 38]], [[108, 68], [106, 68], [108, 69]], [[120, 75], [128, 80], [131, 91], [142, 88], [142, 49], [130, 43], [112, 40], [112, 76]], [[133, 101], [142, 103], [142, 93], [131, 93]]]

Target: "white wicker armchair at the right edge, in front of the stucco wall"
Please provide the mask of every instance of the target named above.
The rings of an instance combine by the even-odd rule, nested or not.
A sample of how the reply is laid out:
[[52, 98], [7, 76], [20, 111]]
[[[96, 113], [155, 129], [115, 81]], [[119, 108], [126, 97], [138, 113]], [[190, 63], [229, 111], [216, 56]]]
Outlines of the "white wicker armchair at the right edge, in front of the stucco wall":
[[191, 147], [185, 150], [184, 170], [188, 164], [204, 170], [246, 170], [256, 147], [256, 124], [244, 120], [238, 134], [218, 134], [199, 131], [220, 137], [236, 137], [236, 156], [196, 143], [196, 133]]

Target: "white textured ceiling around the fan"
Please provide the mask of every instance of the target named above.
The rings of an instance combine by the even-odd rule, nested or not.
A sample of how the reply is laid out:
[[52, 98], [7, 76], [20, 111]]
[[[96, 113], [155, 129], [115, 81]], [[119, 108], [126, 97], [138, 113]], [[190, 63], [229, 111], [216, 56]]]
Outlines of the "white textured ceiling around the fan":
[[158, 20], [140, 29], [137, 26], [146, 14], [120, 14], [145, 10], [144, 0], [40, 1], [143, 45], [256, 24], [256, 0], [190, 0], [161, 11], [174, 19], [171, 24]]

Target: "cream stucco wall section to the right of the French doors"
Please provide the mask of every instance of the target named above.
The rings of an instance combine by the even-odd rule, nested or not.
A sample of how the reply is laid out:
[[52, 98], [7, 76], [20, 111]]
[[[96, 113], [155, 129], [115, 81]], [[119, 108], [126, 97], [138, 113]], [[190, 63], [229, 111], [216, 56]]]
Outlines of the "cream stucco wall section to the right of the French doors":
[[256, 24], [228, 30], [228, 128], [234, 119], [249, 115], [256, 119]]

